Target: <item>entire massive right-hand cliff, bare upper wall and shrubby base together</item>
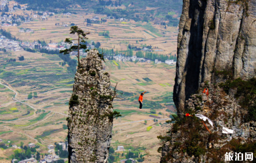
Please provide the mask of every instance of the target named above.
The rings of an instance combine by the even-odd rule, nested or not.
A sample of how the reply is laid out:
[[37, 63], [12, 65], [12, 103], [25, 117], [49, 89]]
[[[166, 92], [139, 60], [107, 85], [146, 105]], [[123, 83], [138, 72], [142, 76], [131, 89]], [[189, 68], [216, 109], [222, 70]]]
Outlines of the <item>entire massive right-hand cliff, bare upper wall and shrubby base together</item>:
[[[224, 163], [226, 152], [235, 161], [236, 152], [249, 151], [254, 161], [255, 77], [256, 0], [183, 0], [174, 86], [178, 116], [158, 137], [164, 142], [161, 163]], [[234, 133], [223, 133], [223, 127]]]

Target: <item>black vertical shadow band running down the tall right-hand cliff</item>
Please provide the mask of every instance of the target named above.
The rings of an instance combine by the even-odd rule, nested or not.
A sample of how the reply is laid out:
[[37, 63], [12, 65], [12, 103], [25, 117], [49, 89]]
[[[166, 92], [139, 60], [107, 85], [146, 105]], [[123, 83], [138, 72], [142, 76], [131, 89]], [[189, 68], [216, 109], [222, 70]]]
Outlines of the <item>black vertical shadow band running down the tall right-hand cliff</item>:
[[[196, 9], [195, 9], [196, 8]], [[186, 59], [186, 83], [185, 83], [185, 100], [195, 93], [199, 88], [200, 81], [200, 64], [202, 57], [202, 42], [204, 31], [204, 13], [206, 2], [201, 1], [201, 7], [198, 0], [190, 1], [189, 18], [192, 19], [190, 26], [190, 38], [188, 57]]]

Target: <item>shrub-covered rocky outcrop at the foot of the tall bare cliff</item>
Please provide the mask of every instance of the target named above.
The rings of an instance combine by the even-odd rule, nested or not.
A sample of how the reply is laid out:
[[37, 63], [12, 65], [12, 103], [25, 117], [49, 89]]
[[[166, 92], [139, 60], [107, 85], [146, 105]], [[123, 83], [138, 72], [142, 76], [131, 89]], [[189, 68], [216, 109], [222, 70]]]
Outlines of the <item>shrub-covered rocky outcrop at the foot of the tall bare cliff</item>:
[[[208, 98], [202, 93], [204, 87], [210, 90]], [[222, 88], [202, 83], [198, 93], [185, 102], [185, 109], [191, 115], [201, 114], [212, 120], [213, 127], [204, 122], [211, 133], [195, 116], [180, 116], [171, 131], [160, 137], [165, 141], [161, 163], [221, 163], [225, 161], [226, 152], [233, 153], [235, 160], [235, 152], [255, 151], [255, 122], [244, 121], [247, 110]], [[233, 129], [234, 133], [223, 134], [222, 127]]]

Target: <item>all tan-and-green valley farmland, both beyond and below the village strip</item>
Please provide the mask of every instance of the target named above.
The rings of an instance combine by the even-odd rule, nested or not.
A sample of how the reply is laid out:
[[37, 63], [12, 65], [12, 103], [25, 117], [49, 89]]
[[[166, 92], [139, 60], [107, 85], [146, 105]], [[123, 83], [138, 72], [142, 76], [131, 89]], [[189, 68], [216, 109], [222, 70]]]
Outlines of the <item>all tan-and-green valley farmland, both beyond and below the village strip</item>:
[[[29, 13], [30, 11], [19, 11]], [[150, 22], [127, 20], [107, 22], [87, 26], [87, 18], [106, 15], [56, 14], [48, 20], [34, 19], [19, 27], [2, 27], [23, 41], [44, 40], [61, 42], [69, 35], [70, 24], [74, 23], [84, 31], [89, 31], [89, 41], [100, 42], [100, 48], [126, 51], [129, 44], [134, 46], [152, 45], [161, 50], [158, 54], [176, 53], [177, 28], [154, 25]], [[59, 24], [67, 24], [63, 27]], [[19, 28], [31, 28], [34, 33], [19, 33]], [[109, 37], [100, 33], [108, 31]], [[135, 54], [135, 53], [134, 53]], [[24, 61], [6, 62], [7, 59], [24, 56]], [[74, 58], [75, 59], [75, 58]], [[0, 53], [0, 137], [19, 145], [29, 142], [41, 146], [41, 153], [47, 145], [67, 138], [66, 118], [68, 102], [72, 93], [74, 74], [61, 65], [58, 55], [16, 51]], [[157, 149], [160, 141], [157, 135], [168, 126], [165, 121], [175, 113], [172, 101], [175, 66], [145, 62], [121, 62], [106, 60], [105, 70], [110, 73], [111, 86], [117, 83], [118, 96], [113, 105], [122, 117], [114, 120], [111, 146], [125, 149], [141, 149], [145, 163], [159, 162]], [[6, 86], [9, 88], [7, 88]], [[147, 91], [143, 98], [143, 110], [138, 109], [140, 93]], [[15, 96], [15, 92], [17, 95]], [[28, 99], [29, 94], [32, 95]], [[152, 113], [154, 112], [154, 113]], [[157, 121], [155, 121], [156, 118]], [[146, 120], [146, 123], [145, 123]], [[0, 149], [0, 157], [10, 160], [14, 149]], [[148, 161], [151, 160], [151, 161]]]

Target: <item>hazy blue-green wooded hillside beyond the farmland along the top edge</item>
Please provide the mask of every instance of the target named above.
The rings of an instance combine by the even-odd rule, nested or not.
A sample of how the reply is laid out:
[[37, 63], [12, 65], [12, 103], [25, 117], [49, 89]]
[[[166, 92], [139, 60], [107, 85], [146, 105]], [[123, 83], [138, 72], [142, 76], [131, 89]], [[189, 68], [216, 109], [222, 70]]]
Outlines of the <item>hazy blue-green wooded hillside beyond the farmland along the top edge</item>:
[[28, 4], [26, 10], [78, 13], [85, 11], [95, 14], [126, 18], [135, 21], [154, 21], [160, 24], [168, 21], [170, 26], [178, 25], [182, 0], [15, 0]]

